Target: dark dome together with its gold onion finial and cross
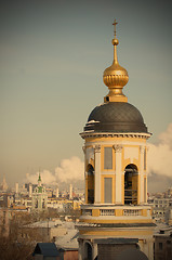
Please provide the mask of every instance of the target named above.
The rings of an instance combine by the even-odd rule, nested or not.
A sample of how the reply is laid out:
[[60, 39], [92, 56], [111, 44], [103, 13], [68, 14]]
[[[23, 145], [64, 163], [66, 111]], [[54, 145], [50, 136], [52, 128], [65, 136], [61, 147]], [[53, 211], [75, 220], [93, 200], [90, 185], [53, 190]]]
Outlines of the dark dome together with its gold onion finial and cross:
[[115, 20], [114, 63], [104, 72], [104, 82], [109, 93], [104, 98], [104, 103], [91, 112], [81, 135], [83, 139], [87, 136], [84, 134], [93, 133], [148, 133], [142, 114], [128, 103], [127, 96], [122, 93], [129, 76], [117, 60], [116, 24]]

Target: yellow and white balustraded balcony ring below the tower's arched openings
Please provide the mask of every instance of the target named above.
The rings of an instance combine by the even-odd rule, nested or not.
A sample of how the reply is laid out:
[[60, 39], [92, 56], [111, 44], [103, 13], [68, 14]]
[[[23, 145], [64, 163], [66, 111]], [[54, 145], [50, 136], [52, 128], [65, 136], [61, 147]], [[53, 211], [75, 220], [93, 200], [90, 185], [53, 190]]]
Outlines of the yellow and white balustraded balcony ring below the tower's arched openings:
[[148, 205], [81, 205], [80, 222], [85, 223], [151, 223]]

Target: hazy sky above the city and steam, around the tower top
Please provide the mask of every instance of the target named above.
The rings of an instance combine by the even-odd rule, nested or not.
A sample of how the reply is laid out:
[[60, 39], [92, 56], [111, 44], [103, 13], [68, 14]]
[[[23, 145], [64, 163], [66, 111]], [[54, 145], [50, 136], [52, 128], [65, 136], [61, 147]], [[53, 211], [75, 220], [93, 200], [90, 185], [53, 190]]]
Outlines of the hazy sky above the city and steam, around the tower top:
[[172, 121], [171, 13], [167, 0], [1, 1], [0, 182], [83, 159], [79, 132], [107, 94], [114, 18], [123, 92], [157, 142]]

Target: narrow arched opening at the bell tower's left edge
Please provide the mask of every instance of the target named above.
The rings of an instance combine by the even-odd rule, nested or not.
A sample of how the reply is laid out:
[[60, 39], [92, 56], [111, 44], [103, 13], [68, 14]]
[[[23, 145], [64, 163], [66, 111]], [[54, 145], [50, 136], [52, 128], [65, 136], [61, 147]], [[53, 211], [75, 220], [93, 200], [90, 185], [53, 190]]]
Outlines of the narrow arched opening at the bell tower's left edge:
[[87, 171], [87, 185], [88, 185], [88, 204], [94, 203], [94, 168], [92, 165], [88, 165]]

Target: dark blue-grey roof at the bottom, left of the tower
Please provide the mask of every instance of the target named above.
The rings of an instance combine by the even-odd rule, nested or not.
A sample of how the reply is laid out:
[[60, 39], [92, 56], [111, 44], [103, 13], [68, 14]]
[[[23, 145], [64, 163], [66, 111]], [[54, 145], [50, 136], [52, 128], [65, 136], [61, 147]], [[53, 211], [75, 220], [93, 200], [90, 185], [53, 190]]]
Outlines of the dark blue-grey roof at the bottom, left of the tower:
[[35, 255], [42, 255], [43, 257], [58, 257], [59, 252], [54, 243], [37, 243], [32, 252]]

